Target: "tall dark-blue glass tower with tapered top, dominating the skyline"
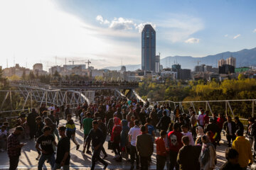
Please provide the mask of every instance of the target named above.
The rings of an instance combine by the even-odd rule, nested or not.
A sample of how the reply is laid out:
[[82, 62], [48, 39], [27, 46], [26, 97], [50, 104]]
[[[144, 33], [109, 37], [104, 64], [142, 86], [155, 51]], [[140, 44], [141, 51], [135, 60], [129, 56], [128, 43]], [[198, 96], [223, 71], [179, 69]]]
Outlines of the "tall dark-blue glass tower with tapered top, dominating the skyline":
[[142, 71], [156, 71], [156, 31], [150, 24], [142, 30]]

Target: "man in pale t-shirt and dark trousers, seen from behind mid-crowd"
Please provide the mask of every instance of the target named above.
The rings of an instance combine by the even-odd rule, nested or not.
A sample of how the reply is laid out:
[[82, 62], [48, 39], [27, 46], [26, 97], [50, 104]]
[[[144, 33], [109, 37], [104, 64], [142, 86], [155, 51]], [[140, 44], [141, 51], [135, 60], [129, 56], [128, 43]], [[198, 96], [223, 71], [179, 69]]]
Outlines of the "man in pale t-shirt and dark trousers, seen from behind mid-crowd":
[[139, 167], [139, 156], [137, 154], [137, 149], [136, 149], [136, 140], [137, 140], [137, 136], [141, 135], [142, 132], [139, 128], [139, 120], [135, 120], [134, 121], [135, 126], [133, 128], [131, 128], [129, 130], [129, 141], [131, 143], [131, 170], [134, 169], [134, 161], [135, 161], [135, 157], [136, 157], [136, 165], [137, 168]]

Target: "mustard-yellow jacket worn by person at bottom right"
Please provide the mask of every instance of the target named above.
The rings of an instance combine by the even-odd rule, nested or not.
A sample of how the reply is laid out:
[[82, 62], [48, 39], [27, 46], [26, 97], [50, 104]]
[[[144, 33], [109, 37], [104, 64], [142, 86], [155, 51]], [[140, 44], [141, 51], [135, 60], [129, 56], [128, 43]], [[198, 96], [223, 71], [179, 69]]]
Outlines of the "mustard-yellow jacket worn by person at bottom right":
[[252, 149], [250, 147], [250, 142], [246, 140], [245, 137], [236, 137], [233, 141], [232, 148], [238, 151], [238, 163], [242, 168], [247, 167], [249, 163], [252, 163]]

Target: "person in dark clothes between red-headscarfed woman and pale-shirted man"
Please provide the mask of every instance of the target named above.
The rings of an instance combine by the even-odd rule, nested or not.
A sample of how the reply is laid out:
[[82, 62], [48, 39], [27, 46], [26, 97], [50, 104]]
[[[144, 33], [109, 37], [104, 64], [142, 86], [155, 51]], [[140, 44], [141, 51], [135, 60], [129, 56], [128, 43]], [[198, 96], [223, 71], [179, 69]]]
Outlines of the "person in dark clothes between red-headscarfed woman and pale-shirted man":
[[127, 146], [129, 145], [128, 132], [129, 132], [128, 121], [127, 120], [122, 120], [122, 131], [121, 131], [120, 147], [121, 147], [122, 155], [125, 155], [125, 157], [127, 159], [128, 159]]

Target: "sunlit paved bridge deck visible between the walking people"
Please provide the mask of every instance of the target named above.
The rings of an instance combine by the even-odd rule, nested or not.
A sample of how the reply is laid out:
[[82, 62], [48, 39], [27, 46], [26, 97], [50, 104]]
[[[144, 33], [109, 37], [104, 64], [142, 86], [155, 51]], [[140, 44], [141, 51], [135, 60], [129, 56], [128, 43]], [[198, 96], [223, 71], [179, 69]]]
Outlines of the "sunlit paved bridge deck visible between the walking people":
[[[60, 120], [60, 125], [64, 125], [65, 120]], [[76, 139], [80, 145], [80, 149], [77, 151], [75, 149], [75, 144], [71, 142], [70, 147], [70, 169], [90, 169], [90, 154], [82, 154], [82, 142], [83, 142], [83, 132], [80, 130], [80, 125], [78, 122], [75, 122], [77, 132]], [[110, 137], [107, 137], [109, 140]], [[225, 137], [222, 137], [225, 139]], [[107, 141], [106, 140], [106, 141]], [[38, 161], [36, 161], [36, 157], [38, 156], [35, 148], [35, 142], [33, 140], [23, 140], [22, 142], [28, 142], [26, 146], [21, 150], [21, 157], [18, 163], [18, 169], [37, 169]], [[227, 145], [223, 144], [224, 141], [221, 142], [220, 146], [217, 147], [217, 158], [218, 164], [216, 169], [218, 169], [223, 162], [225, 162], [225, 148]], [[129, 162], [115, 162], [113, 157], [114, 153], [111, 150], [107, 149], [107, 142], [104, 145], [108, 157], [106, 158], [107, 163], [109, 164], [108, 169], [129, 169]], [[149, 166], [149, 169], [156, 169], [156, 145], [154, 145], [154, 154], [152, 155], [152, 163]], [[0, 169], [8, 169], [9, 168], [9, 158], [6, 152], [0, 152]], [[50, 169], [50, 164], [46, 163], [45, 168]], [[102, 165], [96, 166], [95, 169], [102, 169]]]

